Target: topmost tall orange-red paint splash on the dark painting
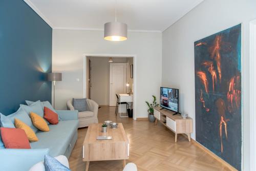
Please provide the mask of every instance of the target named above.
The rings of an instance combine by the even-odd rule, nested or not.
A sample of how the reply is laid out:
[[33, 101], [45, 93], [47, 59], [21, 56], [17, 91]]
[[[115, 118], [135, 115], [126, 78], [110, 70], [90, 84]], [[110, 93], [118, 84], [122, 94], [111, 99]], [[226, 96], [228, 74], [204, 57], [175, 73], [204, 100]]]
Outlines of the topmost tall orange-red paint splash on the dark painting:
[[220, 54], [221, 39], [222, 39], [221, 35], [216, 36], [215, 40], [214, 40], [214, 45], [210, 48], [211, 58], [215, 59], [215, 61], [217, 63], [217, 70], [219, 73], [220, 82], [221, 82], [221, 54]]

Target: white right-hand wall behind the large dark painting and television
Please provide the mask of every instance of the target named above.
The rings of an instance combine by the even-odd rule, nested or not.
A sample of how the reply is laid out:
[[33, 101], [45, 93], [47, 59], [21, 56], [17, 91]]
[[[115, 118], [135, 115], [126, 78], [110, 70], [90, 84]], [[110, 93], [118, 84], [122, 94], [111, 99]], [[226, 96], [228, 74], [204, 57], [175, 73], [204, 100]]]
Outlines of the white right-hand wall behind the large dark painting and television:
[[[180, 112], [194, 119], [194, 41], [243, 23], [243, 155], [249, 170], [249, 21], [256, 18], [256, 1], [205, 0], [162, 36], [162, 86], [180, 89]], [[171, 65], [173, 63], [174, 65]], [[231, 142], [230, 142], [231, 143]]]

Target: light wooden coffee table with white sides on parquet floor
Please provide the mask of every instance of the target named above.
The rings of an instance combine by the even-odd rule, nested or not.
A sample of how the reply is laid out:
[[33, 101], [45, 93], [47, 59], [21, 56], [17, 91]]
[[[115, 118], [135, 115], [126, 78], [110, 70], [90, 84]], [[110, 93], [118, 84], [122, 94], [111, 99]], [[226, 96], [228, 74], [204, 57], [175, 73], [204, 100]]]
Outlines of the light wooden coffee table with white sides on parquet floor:
[[[86, 161], [86, 171], [90, 161], [125, 160], [129, 159], [129, 140], [125, 134], [122, 123], [117, 129], [108, 126], [106, 133], [101, 132], [101, 123], [90, 124], [83, 141], [83, 161]], [[96, 140], [97, 136], [112, 136], [112, 140]]]

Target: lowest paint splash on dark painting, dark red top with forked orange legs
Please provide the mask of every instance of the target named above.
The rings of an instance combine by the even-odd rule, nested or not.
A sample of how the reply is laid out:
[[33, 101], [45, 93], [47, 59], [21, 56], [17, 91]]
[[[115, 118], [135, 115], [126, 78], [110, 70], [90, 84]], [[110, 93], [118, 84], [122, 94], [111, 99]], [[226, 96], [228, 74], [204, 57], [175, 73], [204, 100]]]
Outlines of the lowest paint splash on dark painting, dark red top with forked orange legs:
[[219, 134], [220, 134], [220, 139], [221, 139], [221, 153], [223, 153], [223, 142], [222, 142], [223, 128], [222, 128], [222, 126], [224, 126], [225, 135], [226, 135], [226, 139], [227, 139], [227, 121], [229, 121], [229, 119], [226, 119], [226, 117], [225, 117], [226, 106], [225, 106], [224, 100], [219, 98], [216, 101], [216, 106], [217, 106], [218, 114], [220, 116]]

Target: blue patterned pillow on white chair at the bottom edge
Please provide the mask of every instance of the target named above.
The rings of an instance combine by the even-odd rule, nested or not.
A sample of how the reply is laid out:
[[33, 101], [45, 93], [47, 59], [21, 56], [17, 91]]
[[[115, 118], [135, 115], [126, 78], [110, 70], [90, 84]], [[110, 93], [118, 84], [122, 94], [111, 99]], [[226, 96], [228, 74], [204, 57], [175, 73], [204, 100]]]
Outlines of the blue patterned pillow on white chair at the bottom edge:
[[71, 171], [68, 167], [49, 155], [45, 155], [44, 164], [46, 171]]

